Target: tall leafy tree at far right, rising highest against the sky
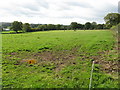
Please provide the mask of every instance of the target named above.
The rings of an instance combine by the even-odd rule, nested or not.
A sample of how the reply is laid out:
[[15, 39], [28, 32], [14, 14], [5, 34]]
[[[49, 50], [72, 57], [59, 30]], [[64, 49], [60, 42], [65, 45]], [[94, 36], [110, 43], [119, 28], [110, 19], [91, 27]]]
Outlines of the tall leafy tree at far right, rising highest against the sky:
[[106, 24], [108, 25], [117, 25], [120, 23], [120, 14], [119, 13], [108, 13], [105, 17], [104, 20]]

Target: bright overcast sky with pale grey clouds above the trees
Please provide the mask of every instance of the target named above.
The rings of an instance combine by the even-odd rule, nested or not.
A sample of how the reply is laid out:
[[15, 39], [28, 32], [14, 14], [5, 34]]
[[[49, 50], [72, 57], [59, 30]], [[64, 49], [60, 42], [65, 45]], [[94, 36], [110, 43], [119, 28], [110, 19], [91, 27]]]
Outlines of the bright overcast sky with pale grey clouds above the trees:
[[107, 13], [118, 12], [119, 0], [1, 0], [0, 22], [39, 24], [104, 23]]

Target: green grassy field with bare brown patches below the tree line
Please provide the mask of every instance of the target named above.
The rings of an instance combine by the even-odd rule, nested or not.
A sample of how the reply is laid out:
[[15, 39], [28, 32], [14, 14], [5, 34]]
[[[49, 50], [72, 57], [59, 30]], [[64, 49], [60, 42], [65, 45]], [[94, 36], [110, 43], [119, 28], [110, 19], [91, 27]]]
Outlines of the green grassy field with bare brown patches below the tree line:
[[93, 60], [92, 88], [118, 88], [109, 30], [4, 33], [2, 40], [3, 88], [88, 88]]

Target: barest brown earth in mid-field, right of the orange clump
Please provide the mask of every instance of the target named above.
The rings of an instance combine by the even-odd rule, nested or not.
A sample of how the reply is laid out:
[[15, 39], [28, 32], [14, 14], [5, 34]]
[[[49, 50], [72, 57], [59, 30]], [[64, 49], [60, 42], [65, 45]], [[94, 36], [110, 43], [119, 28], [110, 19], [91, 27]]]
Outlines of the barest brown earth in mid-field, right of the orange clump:
[[60, 52], [42, 52], [34, 54], [33, 56], [38, 57], [39, 63], [49, 62], [56, 65], [55, 71], [61, 70], [64, 66], [69, 64], [76, 64], [76, 55], [66, 51]]

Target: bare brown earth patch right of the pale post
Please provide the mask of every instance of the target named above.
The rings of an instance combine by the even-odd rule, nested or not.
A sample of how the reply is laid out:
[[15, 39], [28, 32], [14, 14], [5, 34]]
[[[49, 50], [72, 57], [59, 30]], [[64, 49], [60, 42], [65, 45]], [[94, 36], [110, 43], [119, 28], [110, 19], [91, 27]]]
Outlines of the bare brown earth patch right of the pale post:
[[[116, 50], [117, 48], [114, 48]], [[117, 73], [119, 71], [118, 65], [118, 57], [113, 58], [113, 60], [107, 60], [109, 54], [118, 54], [113, 51], [105, 51], [100, 52], [101, 56], [93, 56], [93, 60], [95, 64], [99, 64], [101, 66], [100, 70], [109, 74]]]

